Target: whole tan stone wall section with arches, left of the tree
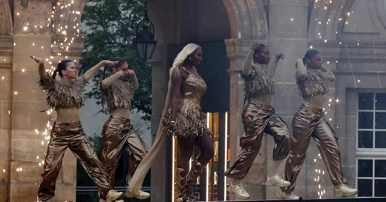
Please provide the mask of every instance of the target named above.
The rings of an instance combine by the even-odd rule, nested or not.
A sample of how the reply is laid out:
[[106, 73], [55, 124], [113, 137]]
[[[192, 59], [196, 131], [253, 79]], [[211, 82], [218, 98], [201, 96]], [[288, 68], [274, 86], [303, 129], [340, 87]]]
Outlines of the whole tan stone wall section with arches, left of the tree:
[[[79, 63], [85, 38], [78, 37], [86, 0], [0, 0], [0, 202], [37, 201], [54, 113], [37, 81], [36, 62], [46, 68]], [[1, 180], [1, 179], [0, 179]], [[54, 202], [75, 201], [76, 159], [68, 150]]]

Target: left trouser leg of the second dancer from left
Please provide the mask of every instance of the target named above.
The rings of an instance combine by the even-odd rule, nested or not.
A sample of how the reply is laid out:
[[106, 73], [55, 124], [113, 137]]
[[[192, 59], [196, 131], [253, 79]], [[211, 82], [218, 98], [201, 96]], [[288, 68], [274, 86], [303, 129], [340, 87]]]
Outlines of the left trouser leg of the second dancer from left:
[[103, 149], [100, 161], [105, 167], [110, 180], [111, 188], [115, 185], [115, 170], [119, 164], [122, 147], [124, 142], [121, 141], [122, 124], [114, 123], [109, 119], [102, 129]]

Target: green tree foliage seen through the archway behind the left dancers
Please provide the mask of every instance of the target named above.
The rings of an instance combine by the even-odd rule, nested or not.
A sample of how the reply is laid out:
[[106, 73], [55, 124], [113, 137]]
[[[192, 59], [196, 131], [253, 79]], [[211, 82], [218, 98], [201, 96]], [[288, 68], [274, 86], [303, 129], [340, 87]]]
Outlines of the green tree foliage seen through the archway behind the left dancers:
[[[145, 113], [142, 119], [149, 121], [151, 115], [151, 68], [135, 55], [132, 44], [135, 28], [144, 18], [144, 5], [140, 0], [88, 0], [82, 15], [82, 33], [87, 36], [85, 51], [81, 55], [81, 73], [101, 60], [123, 57], [134, 70], [139, 88], [134, 93], [133, 109]], [[110, 76], [111, 68], [103, 68], [92, 78], [93, 87], [85, 95], [96, 98], [101, 104], [99, 83]], [[102, 109], [102, 107], [101, 107]], [[106, 110], [102, 112], [107, 113]]]

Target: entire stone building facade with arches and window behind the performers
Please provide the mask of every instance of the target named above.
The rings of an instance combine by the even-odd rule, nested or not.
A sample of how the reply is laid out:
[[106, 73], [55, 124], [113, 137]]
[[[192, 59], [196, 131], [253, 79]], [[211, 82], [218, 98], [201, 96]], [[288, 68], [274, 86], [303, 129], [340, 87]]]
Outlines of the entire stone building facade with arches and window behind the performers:
[[[0, 182], [0, 202], [36, 200], [43, 171], [41, 162], [47, 149], [46, 130], [54, 114], [39, 112], [47, 107], [46, 97], [36, 84], [36, 64], [28, 55], [47, 58], [46, 67], [66, 56], [78, 63], [85, 39], [77, 37], [77, 29], [85, 3], [86, 0], [0, 0], [0, 169], [4, 179]], [[386, 92], [384, 0], [152, 0], [147, 6], [158, 40], [149, 60], [153, 75], [153, 135], [166, 97], [169, 61], [173, 58], [168, 55], [170, 46], [212, 41], [225, 44], [230, 80], [230, 163], [240, 150], [238, 139], [243, 132], [240, 113], [244, 95], [237, 69], [242, 67], [249, 47], [260, 42], [269, 45], [273, 54], [284, 53], [274, 75], [273, 105], [276, 114], [289, 125], [301, 103], [295, 89], [295, 61], [312, 47], [321, 52], [325, 65], [337, 77], [330, 85], [325, 111], [326, 119], [340, 137], [344, 174], [350, 185], [366, 185], [360, 193], [370, 197], [384, 195], [377, 188], [386, 177], [377, 172], [386, 159], [386, 140], [382, 137], [386, 128], [382, 125], [386, 109], [382, 105]], [[277, 188], [261, 185], [266, 168], [272, 163], [272, 147], [273, 140], [265, 137], [260, 155], [245, 179], [251, 199], [274, 199], [278, 192]], [[154, 162], [152, 201], [170, 198], [170, 186], [165, 184], [170, 182], [170, 175], [165, 175], [171, 172], [167, 158], [170, 152], [165, 147]], [[304, 198], [334, 196], [318, 154], [312, 142], [296, 183], [296, 194]], [[75, 170], [76, 160], [68, 151], [54, 202], [75, 201]]]

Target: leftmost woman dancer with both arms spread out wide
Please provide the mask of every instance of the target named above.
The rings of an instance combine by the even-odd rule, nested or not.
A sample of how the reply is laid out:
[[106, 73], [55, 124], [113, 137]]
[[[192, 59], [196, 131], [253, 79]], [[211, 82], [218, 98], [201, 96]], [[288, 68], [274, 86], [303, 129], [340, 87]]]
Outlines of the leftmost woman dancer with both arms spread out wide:
[[[52, 77], [49, 77], [44, 68], [44, 60], [30, 57], [38, 63], [40, 75], [38, 83], [47, 93], [47, 103], [50, 107], [54, 107], [57, 113], [44, 160], [43, 180], [38, 192], [40, 201], [49, 202], [54, 197], [56, 179], [62, 166], [64, 152], [68, 147], [97, 185], [101, 199], [108, 202], [123, 199], [124, 193], [111, 190], [106, 170], [86, 137], [79, 116], [79, 108], [84, 105], [83, 91], [87, 81], [102, 66], [115, 65], [117, 62], [103, 60], [78, 77], [75, 64], [71, 60], [63, 60], [59, 62]], [[55, 80], [57, 74], [61, 77], [60, 81]]]

